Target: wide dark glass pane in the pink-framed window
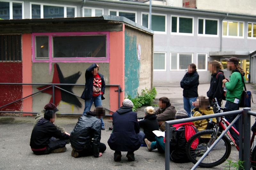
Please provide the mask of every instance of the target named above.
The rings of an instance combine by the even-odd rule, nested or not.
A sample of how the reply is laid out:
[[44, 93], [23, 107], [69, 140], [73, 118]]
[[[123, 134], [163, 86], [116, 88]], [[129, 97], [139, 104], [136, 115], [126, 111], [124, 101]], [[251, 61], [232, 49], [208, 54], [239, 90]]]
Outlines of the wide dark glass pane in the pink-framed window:
[[107, 57], [106, 36], [53, 36], [53, 57]]

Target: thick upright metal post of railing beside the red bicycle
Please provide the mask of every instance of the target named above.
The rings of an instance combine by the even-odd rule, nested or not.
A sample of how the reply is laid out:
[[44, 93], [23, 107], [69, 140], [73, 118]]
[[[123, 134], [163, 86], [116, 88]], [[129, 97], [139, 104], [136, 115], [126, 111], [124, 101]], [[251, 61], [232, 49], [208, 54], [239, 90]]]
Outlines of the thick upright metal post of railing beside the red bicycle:
[[[245, 107], [243, 109], [243, 161], [244, 169], [251, 168], [251, 116], [247, 114], [251, 108]], [[240, 146], [239, 146], [240, 148]]]

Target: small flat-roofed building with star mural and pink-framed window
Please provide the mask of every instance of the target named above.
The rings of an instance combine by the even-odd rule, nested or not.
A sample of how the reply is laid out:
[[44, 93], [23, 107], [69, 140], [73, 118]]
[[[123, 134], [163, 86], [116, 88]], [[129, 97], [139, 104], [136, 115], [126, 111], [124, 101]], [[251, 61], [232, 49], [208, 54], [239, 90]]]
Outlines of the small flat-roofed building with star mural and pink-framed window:
[[[85, 70], [100, 65], [106, 90], [102, 105], [116, 111], [128, 95], [135, 97], [153, 83], [153, 31], [124, 17], [0, 20], [1, 83], [84, 84]], [[118, 88], [120, 85], [120, 100]], [[49, 86], [49, 85], [48, 85]], [[84, 86], [57, 85], [80, 96]], [[46, 88], [1, 85], [0, 106]], [[82, 113], [84, 100], [55, 87], [60, 113]], [[52, 88], [2, 110], [40, 112]], [[93, 109], [93, 108], [92, 108]]]

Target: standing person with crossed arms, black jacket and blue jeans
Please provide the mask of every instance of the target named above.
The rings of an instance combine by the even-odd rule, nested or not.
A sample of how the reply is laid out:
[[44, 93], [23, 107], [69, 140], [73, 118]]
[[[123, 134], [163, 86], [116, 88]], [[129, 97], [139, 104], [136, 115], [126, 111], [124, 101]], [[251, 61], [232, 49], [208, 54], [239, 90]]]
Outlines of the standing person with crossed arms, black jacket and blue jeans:
[[192, 102], [195, 102], [198, 97], [198, 85], [199, 75], [196, 71], [196, 64], [190, 63], [188, 65], [188, 72], [180, 81], [180, 87], [183, 88], [183, 106], [188, 113], [188, 117], [194, 114], [194, 112], [191, 111], [195, 107], [192, 105]]

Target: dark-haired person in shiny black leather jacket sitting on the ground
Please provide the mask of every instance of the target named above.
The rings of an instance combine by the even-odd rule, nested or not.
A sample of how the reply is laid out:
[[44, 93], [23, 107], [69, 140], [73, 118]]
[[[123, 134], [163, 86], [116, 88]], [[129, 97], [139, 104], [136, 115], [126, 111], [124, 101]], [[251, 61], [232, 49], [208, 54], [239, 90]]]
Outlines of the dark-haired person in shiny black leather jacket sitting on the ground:
[[75, 128], [70, 133], [70, 144], [73, 148], [71, 156], [75, 158], [89, 155], [96, 158], [102, 156], [106, 145], [100, 143], [101, 121], [98, 118], [104, 115], [105, 109], [97, 106], [93, 112], [87, 111], [78, 119]]

